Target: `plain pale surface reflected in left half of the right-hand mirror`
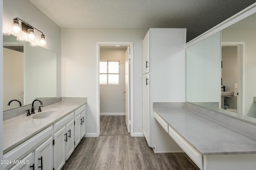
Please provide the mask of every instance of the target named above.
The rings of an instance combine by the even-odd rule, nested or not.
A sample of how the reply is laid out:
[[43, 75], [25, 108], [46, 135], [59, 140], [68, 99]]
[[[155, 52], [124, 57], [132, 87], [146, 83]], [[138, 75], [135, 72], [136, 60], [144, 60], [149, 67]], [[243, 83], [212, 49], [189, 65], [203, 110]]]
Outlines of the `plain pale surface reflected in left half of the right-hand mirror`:
[[187, 47], [186, 49], [186, 101], [219, 102], [220, 32]]

